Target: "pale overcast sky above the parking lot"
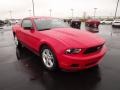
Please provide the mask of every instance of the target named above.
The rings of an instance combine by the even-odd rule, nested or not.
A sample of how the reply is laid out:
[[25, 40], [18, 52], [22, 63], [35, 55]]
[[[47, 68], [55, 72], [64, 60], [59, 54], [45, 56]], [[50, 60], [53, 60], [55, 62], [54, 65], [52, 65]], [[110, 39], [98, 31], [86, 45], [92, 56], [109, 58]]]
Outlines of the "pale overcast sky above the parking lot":
[[[52, 9], [54, 17], [71, 17], [72, 8], [75, 17], [82, 17], [83, 12], [93, 16], [94, 8], [98, 8], [96, 16], [113, 16], [117, 0], [34, 0], [34, 3], [36, 16], [49, 16]], [[0, 19], [10, 18], [10, 10], [14, 18], [30, 16], [32, 0], [0, 0]], [[117, 15], [120, 15], [120, 2]]]

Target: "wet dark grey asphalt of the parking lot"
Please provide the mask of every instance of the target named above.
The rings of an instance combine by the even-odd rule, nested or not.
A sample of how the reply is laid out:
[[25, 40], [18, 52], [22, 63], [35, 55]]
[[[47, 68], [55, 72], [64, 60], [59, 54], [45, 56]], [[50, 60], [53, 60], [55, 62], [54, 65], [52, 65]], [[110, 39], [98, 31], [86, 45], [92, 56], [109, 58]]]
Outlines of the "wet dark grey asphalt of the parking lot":
[[[81, 29], [93, 30], [84, 24]], [[10, 27], [0, 29], [0, 90], [120, 90], [120, 28], [100, 25], [98, 30], [94, 34], [105, 38], [108, 48], [98, 69], [50, 72], [39, 57], [16, 48]]]

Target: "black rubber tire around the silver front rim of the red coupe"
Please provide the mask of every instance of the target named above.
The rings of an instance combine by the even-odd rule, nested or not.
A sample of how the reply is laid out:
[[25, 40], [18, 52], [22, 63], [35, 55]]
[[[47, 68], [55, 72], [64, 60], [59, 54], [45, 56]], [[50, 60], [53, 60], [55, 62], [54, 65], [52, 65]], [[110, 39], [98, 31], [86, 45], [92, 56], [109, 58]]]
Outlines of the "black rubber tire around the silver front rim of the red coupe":
[[[43, 59], [44, 59], [44, 58], [43, 58], [43, 52], [44, 52], [45, 50], [49, 50], [49, 51], [51, 52], [51, 54], [53, 55], [53, 58], [54, 58], [54, 59], [53, 59], [53, 66], [52, 66], [52, 67], [48, 67], [48, 66], [45, 64], [44, 60], [43, 60]], [[46, 45], [42, 47], [42, 49], [41, 49], [41, 51], [40, 51], [40, 58], [41, 58], [41, 60], [42, 60], [42, 63], [43, 63], [43, 65], [44, 65], [44, 67], [45, 67], [47, 70], [56, 71], [56, 70], [58, 69], [57, 58], [56, 58], [53, 50], [52, 50], [50, 47], [48, 47], [48, 46], [46, 46]]]

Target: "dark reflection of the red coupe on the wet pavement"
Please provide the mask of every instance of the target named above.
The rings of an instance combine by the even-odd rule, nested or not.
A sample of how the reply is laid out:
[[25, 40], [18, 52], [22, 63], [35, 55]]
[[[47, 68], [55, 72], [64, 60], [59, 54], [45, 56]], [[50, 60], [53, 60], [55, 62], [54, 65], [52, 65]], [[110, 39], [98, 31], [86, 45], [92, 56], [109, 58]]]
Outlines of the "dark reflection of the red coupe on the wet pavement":
[[80, 72], [57, 71], [50, 72], [42, 67], [39, 57], [28, 51], [26, 48], [16, 48], [18, 62], [30, 75], [30, 80], [43, 85], [47, 90], [92, 90], [96, 88], [101, 80], [100, 68], [91, 68]]

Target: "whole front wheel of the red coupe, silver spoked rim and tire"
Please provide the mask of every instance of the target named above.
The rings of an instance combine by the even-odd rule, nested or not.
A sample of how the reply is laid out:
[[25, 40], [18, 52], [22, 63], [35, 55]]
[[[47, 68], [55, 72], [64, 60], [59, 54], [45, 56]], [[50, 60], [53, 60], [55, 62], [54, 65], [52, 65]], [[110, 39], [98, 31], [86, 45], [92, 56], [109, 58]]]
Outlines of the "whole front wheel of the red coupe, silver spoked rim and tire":
[[54, 52], [48, 46], [42, 48], [40, 56], [46, 69], [51, 71], [57, 69], [57, 59]]

